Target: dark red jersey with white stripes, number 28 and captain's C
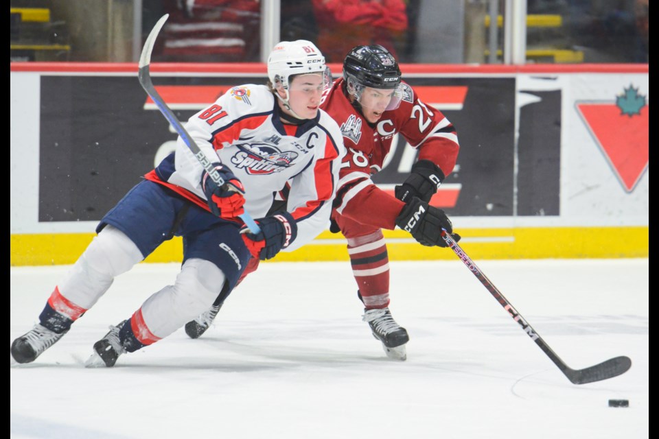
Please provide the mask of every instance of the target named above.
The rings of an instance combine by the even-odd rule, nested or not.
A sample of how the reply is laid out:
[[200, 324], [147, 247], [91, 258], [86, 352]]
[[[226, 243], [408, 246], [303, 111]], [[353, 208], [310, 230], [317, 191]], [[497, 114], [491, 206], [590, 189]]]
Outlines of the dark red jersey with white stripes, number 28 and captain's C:
[[393, 230], [404, 203], [379, 189], [371, 176], [382, 169], [395, 134], [400, 133], [419, 150], [419, 160], [432, 161], [448, 176], [458, 156], [456, 131], [405, 82], [401, 84], [400, 106], [385, 111], [371, 125], [350, 103], [344, 84], [343, 79], [336, 80], [321, 102], [321, 108], [340, 126], [347, 152], [341, 163], [334, 209], [361, 224]]

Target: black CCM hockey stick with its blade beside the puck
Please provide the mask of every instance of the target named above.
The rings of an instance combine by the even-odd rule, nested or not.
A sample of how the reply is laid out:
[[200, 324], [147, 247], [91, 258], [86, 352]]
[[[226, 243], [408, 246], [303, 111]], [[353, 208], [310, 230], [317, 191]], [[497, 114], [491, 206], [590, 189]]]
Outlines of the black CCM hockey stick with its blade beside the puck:
[[595, 366], [590, 366], [589, 368], [585, 369], [573, 369], [568, 367], [567, 364], [558, 356], [552, 349], [546, 344], [544, 340], [542, 340], [542, 337], [531, 327], [531, 325], [527, 322], [526, 319], [522, 317], [518, 311], [513, 308], [512, 305], [510, 305], [510, 302], [501, 294], [501, 292], [495, 287], [492, 282], [489, 281], [487, 276], [481, 272], [481, 270], [476, 267], [476, 264], [474, 261], [470, 259], [470, 257], [467, 256], [464, 250], [460, 248], [458, 243], [451, 237], [449, 233], [446, 232], [445, 229], [442, 229], [441, 232], [441, 237], [444, 241], [446, 241], [446, 244], [455, 252], [455, 254], [458, 255], [461, 261], [465, 265], [467, 265], [467, 268], [478, 278], [478, 281], [481, 281], [483, 285], [485, 285], [485, 288], [487, 288], [487, 291], [489, 291], [492, 296], [496, 299], [497, 302], [505, 309], [508, 311], [510, 316], [520, 324], [520, 327], [522, 327], [522, 330], [531, 337], [531, 340], [537, 344], [537, 346], [540, 346], [540, 349], [542, 349], [542, 352], [544, 352], [551, 361], [554, 362], [556, 366], [561, 370], [561, 372], [564, 373], [566, 377], [572, 382], [573, 384], [586, 384], [586, 383], [592, 383], [594, 381], [602, 381], [603, 379], [609, 379], [613, 377], [617, 377], [618, 375], [622, 375], [623, 373], [627, 372], [630, 367], [632, 367], [632, 360], [629, 359], [629, 357], [615, 357], [612, 359], [608, 359], [604, 361], [603, 363], [596, 364]]

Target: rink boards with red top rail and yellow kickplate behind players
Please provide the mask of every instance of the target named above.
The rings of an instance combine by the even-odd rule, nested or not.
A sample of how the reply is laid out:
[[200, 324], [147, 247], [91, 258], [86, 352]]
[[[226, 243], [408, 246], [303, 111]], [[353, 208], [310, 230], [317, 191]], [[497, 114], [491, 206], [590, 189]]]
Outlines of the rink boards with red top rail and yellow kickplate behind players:
[[[176, 145], [135, 66], [44, 65], [12, 64], [10, 74], [12, 265], [75, 261], [102, 215]], [[257, 68], [196, 69], [154, 74], [181, 121], [233, 86], [266, 82]], [[459, 158], [431, 203], [450, 215], [470, 256], [647, 257], [647, 65], [407, 70], [404, 80], [456, 127]], [[373, 180], [393, 191], [415, 159], [399, 137]], [[614, 244], [612, 233], [621, 237]], [[392, 259], [451, 258], [402, 230], [385, 237]], [[180, 259], [180, 243], [163, 247], [148, 260]], [[345, 241], [329, 230], [277, 257], [345, 258]]]

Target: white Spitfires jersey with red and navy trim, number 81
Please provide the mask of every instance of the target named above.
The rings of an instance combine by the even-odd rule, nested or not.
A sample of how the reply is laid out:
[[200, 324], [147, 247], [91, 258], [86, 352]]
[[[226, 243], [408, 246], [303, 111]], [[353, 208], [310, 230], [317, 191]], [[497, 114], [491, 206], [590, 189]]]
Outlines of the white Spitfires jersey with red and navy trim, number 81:
[[[345, 149], [340, 128], [325, 111], [302, 125], [284, 124], [275, 99], [267, 86], [236, 86], [192, 116], [185, 129], [211, 161], [220, 161], [240, 179], [244, 208], [253, 218], [266, 215], [288, 182], [287, 210], [298, 230], [284, 251], [292, 251], [329, 224]], [[145, 178], [209, 210], [201, 188], [203, 170], [179, 137], [175, 154]]]

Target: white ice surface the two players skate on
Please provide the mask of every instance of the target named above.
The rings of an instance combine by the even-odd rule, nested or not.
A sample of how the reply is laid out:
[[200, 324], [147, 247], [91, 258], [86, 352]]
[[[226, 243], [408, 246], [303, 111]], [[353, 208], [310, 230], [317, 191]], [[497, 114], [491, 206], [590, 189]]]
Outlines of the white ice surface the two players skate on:
[[[198, 340], [183, 329], [82, 362], [178, 264], [119, 276], [32, 364], [10, 367], [12, 438], [648, 438], [648, 259], [476, 261], [572, 368], [632, 368], [573, 385], [459, 261], [392, 262], [411, 340], [386, 359], [349, 263], [264, 263]], [[11, 268], [10, 343], [69, 266]], [[608, 407], [629, 399], [629, 407]]]

